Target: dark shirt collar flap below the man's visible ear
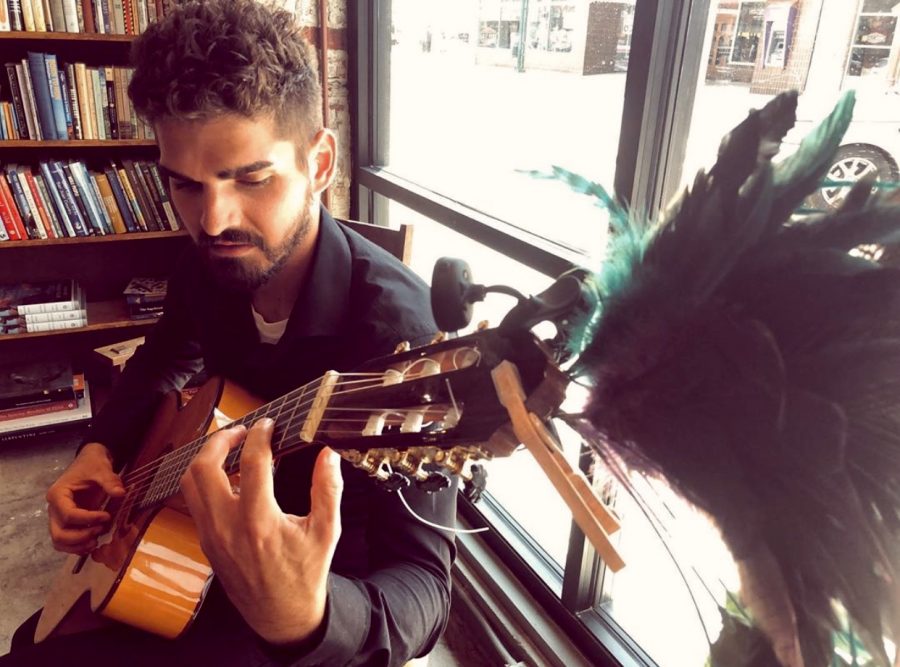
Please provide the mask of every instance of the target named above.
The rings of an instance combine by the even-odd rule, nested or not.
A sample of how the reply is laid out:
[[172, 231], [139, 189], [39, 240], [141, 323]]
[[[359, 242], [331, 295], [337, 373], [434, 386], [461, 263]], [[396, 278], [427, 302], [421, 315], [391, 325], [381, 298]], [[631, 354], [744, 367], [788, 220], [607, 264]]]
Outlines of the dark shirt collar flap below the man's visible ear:
[[288, 336], [337, 336], [350, 308], [350, 246], [338, 224], [320, 209], [313, 264], [288, 320]]

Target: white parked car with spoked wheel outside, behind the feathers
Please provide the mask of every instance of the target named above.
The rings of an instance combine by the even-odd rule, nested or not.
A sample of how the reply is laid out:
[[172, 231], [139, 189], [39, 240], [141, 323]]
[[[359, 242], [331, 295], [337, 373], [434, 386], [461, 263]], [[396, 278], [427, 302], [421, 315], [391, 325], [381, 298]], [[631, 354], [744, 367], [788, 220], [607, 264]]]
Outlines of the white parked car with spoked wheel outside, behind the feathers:
[[[797, 107], [797, 123], [785, 138], [785, 147], [796, 148], [800, 138], [819, 122], [834, 98], [803, 94]], [[810, 208], [837, 209], [852, 183], [874, 174], [881, 187], [900, 182], [900, 91], [858, 91], [853, 120], [834, 155], [822, 187], [807, 201]]]

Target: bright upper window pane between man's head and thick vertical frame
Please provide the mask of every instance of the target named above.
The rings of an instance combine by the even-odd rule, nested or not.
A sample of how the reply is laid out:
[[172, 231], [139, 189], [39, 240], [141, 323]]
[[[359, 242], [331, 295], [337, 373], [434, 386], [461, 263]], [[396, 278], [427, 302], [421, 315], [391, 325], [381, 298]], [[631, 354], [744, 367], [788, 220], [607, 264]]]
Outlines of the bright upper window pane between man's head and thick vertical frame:
[[394, 0], [386, 166], [591, 250], [584, 198], [527, 172], [559, 165], [611, 187], [633, 10], [633, 0]]

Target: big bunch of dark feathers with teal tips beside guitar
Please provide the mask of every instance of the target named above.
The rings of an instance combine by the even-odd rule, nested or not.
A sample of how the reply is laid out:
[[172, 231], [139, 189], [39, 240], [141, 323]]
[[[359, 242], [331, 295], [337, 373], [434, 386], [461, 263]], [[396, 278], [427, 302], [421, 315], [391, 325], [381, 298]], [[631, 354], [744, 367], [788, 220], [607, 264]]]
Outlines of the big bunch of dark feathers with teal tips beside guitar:
[[[850, 122], [846, 94], [773, 164], [796, 93], [753, 111], [657, 224], [602, 188], [611, 250], [574, 336], [590, 387], [569, 420], [605, 457], [667, 479], [718, 524], [742, 598], [785, 666], [831, 660], [835, 603], [877, 661], [898, 616], [900, 207], [855, 187], [792, 219]], [[900, 637], [900, 628], [894, 628]]]

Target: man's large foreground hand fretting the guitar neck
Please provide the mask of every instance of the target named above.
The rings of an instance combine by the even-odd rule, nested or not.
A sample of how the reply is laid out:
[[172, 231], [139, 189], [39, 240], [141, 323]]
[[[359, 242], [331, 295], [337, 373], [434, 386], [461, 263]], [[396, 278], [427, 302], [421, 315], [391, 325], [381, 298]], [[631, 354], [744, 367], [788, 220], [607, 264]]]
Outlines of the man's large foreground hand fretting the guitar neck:
[[[263, 639], [308, 638], [325, 617], [326, 582], [341, 534], [340, 457], [322, 450], [313, 471], [310, 513], [285, 514], [275, 501], [270, 419], [215, 433], [181, 478], [200, 543], [225, 592]], [[244, 442], [240, 492], [225, 457]]]

